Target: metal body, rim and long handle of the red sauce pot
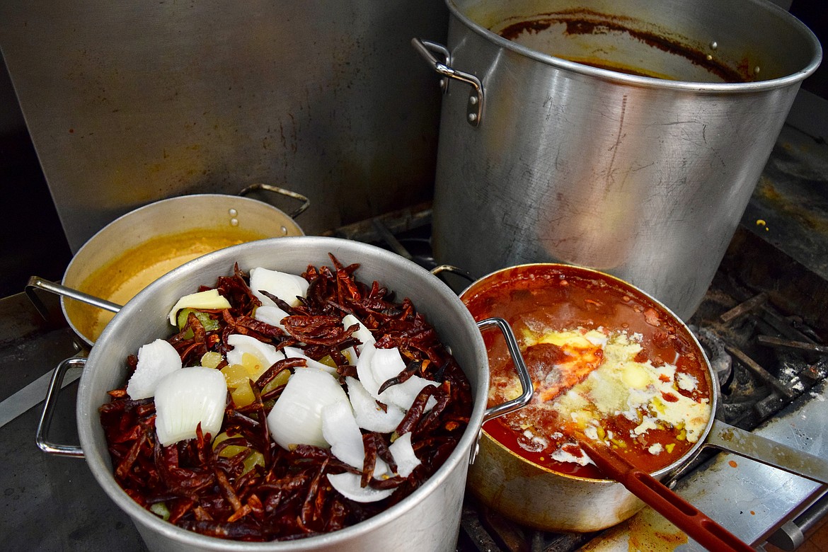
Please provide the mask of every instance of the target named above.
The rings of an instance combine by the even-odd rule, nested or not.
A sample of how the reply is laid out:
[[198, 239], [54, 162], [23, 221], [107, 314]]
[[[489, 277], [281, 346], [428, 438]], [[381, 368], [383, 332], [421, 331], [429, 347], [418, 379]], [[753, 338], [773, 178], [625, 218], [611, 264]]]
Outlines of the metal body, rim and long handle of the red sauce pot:
[[[691, 347], [691, 351], [683, 354], [695, 354], [704, 361], [706, 384], [710, 388], [710, 420], [696, 444], [675, 462], [652, 473], [654, 478], [664, 480], [680, 473], [681, 468], [690, 463], [703, 448], [714, 447], [816, 482], [828, 483], [828, 460], [825, 458], [806, 454], [715, 419], [720, 403], [720, 388], [704, 349], [686, 324], [671, 310], [628, 282], [579, 266], [538, 263], [495, 271], [475, 281], [462, 293], [461, 299], [469, 304], [475, 295], [480, 295], [484, 290], [496, 287], [509, 289], [509, 286], [518, 281], [542, 282], [547, 277], [558, 278], [561, 275], [599, 282], [598, 286], [590, 288], [597, 290], [594, 297], [597, 303], [608, 303], [610, 295], [602, 295], [599, 290], [612, 288], [621, 290], [623, 295], [631, 298], [632, 301], [624, 308], [641, 305], [643, 309], [654, 309], [657, 319], [662, 322], [661, 327], [672, 326], [676, 329], [676, 334]], [[490, 312], [497, 316], [498, 307]], [[615, 315], [618, 316], [617, 313]], [[510, 316], [504, 316], [504, 319], [515, 327], [516, 319], [511, 319]], [[573, 320], [569, 327], [574, 328], [580, 324], [586, 324], [586, 321]], [[602, 530], [626, 520], [644, 506], [619, 482], [558, 473], [523, 458], [494, 439], [485, 425], [478, 457], [469, 469], [468, 487], [487, 506], [523, 525], [541, 530]]]

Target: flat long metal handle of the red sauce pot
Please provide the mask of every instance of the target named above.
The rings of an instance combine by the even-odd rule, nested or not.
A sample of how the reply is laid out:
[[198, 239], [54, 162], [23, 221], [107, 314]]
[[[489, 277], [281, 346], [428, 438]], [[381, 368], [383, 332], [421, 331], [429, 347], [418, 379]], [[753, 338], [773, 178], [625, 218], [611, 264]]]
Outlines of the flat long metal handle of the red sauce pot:
[[721, 420], [713, 421], [710, 433], [705, 439], [705, 446], [739, 454], [744, 458], [828, 485], [828, 460], [825, 458], [741, 430]]

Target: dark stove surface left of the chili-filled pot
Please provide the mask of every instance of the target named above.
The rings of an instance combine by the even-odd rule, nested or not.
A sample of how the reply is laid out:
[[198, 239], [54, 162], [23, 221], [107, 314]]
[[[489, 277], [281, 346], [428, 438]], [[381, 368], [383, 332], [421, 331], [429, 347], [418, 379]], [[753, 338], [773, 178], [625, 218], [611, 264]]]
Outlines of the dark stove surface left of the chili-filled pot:
[[[74, 335], [60, 319], [57, 302], [43, 299], [58, 313], [55, 319], [44, 321], [24, 294], [0, 300], [2, 399], [25, 389], [42, 400], [48, 373], [76, 353]], [[50, 434], [55, 442], [78, 444], [76, 387], [66, 386], [60, 395]], [[0, 548], [146, 550], [132, 522], [100, 490], [83, 460], [37, 448], [40, 414], [41, 406], [31, 408], [0, 427]]]

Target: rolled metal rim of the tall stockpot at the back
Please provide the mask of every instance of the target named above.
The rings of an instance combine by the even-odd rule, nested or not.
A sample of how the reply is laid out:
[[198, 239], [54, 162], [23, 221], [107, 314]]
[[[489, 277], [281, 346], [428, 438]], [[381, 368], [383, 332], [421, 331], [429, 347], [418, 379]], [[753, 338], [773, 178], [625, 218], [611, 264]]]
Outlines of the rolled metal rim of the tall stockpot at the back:
[[584, 74], [596, 79], [609, 80], [619, 84], [628, 84], [644, 88], [653, 89], [672, 89], [684, 90], [696, 93], [710, 93], [710, 94], [734, 94], [734, 93], [756, 93], [771, 89], [780, 89], [792, 84], [802, 82], [810, 76], [816, 68], [820, 65], [822, 60], [822, 46], [816, 35], [797, 17], [792, 16], [789, 12], [778, 7], [773, 2], [760, 2], [759, 0], [745, 0], [749, 4], [753, 4], [758, 10], [763, 12], [772, 12], [777, 18], [785, 20], [785, 22], [792, 27], [792, 30], [798, 31], [802, 38], [806, 41], [809, 50], [811, 50], [811, 60], [801, 70], [797, 70], [792, 74], [787, 74], [777, 79], [758, 80], [749, 83], [703, 83], [684, 80], [667, 80], [656, 79], [653, 77], [644, 77], [634, 74], [619, 73], [617, 71], [601, 69], [591, 65], [580, 64], [575, 61], [565, 60], [554, 55], [544, 54], [537, 50], [532, 50], [526, 46], [517, 44], [517, 42], [510, 41], [503, 36], [489, 31], [479, 23], [474, 22], [467, 17], [460, 8], [457, 7], [457, 0], [445, 0], [446, 7], [454, 17], [457, 17], [460, 22], [469, 27], [472, 31], [484, 39], [493, 42], [495, 45], [507, 50], [512, 50], [519, 55], [524, 55], [532, 60], [540, 61], [544, 65], [551, 65], [560, 70], [567, 70], [577, 74]]

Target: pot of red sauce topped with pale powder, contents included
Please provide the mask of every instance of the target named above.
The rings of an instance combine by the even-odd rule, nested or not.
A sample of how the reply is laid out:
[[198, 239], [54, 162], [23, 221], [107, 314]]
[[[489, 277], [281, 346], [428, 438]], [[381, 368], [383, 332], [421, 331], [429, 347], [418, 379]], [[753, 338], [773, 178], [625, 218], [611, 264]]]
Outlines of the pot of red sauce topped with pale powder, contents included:
[[[461, 299], [474, 319], [513, 328], [534, 395], [528, 406], [483, 425], [468, 488], [481, 502], [541, 530], [590, 532], [614, 526], [644, 504], [604, 477], [573, 435], [604, 442], [664, 479], [703, 446], [724, 449], [816, 481], [826, 463], [715, 420], [719, 387], [704, 350], [671, 310], [642, 290], [579, 266], [531, 264], [475, 281]], [[508, 351], [484, 335], [489, 401], [515, 392]], [[736, 441], [738, 439], [732, 439]], [[797, 466], [755, 458], [784, 449]], [[754, 452], [751, 452], [753, 450]], [[811, 463], [802, 473], [799, 468]]]

